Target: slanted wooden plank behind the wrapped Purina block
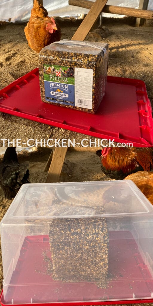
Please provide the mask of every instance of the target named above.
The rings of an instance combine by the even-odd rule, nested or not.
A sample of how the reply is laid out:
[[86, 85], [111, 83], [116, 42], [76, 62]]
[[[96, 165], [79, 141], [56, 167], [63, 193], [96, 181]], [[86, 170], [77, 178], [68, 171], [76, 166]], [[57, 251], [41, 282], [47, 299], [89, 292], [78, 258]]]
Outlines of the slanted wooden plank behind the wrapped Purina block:
[[84, 40], [86, 38], [106, 3], [107, 0], [96, 0], [94, 2], [89, 13], [73, 35], [72, 40]]

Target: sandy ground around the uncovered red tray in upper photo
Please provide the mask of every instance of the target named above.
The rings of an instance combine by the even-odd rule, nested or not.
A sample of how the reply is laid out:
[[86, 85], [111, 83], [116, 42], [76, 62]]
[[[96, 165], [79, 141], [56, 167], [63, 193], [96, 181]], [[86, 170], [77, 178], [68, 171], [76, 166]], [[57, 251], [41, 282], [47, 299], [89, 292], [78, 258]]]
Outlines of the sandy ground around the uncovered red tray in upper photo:
[[[60, 19], [58, 22], [62, 39], [71, 39], [80, 24], [79, 20]], [[144, 80], [153, 106], [153, 31], [152, 27], [136, 28], [134, 24], [134, 18], [103, 18], [103, 25], [111, 35], [103, 38], [94, 34], [87, 39], [109, 44], [108, 75]], [[38, 67], [39, 55], [28, 47], [24, 27], [25, 24], [0, 24], [0, 89]], [[22, 142], [29, 138], [75, 138], [80, 142], [84, 135], [0, 113], [0, 138], [21, 138]]]

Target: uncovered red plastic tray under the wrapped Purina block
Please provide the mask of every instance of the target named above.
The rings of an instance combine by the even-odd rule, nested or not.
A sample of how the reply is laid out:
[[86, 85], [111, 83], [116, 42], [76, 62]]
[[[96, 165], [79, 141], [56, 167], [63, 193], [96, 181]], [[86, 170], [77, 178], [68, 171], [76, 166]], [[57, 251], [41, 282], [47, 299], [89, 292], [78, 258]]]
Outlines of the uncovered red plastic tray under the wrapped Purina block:
[[151, 103], [141, 80], [108, 76], [96, 114], [43, 103], [38, 68], [0, 91], [0, 111], [137, 147], [153, 146]]

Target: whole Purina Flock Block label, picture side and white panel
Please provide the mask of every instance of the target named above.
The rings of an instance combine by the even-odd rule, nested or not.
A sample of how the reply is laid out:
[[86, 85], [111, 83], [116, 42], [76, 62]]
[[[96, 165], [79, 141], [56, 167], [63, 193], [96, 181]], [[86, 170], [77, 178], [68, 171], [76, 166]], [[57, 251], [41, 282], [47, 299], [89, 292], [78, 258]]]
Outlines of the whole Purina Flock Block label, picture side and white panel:
[[92, 69], [43, 65], [45, 99], [92, 109]]

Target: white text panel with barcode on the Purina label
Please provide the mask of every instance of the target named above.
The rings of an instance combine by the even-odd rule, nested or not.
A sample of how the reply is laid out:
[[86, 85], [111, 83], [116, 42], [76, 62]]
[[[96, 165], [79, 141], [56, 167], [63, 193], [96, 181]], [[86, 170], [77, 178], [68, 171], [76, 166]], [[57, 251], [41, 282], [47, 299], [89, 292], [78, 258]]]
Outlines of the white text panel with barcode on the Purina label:
[[92, 109], [93, 70], [75, 68], [75, 106]]

